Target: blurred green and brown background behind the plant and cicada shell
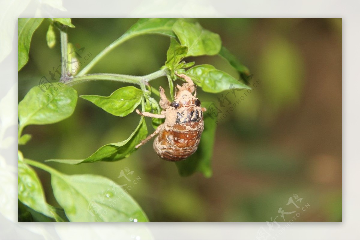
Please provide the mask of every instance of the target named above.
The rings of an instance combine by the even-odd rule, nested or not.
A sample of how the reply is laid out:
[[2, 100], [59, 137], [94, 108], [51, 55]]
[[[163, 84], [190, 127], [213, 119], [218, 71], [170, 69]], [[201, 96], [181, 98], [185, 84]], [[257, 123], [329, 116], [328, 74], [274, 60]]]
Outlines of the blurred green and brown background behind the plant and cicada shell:
[[[150, 221], [271, 222], [276, 218], [283, 222], [279, 208], [288, 213], [296, 211], [284, 213], [285, 222], [342, 221], [342, 20], [197, 20], [220, 34], [222, 44], [253, 74], [251, 93], [245, 96], [244, 91], [235, 91], [234, 96], [229, 91], [226, 95], [231, 103], [241, 96], [243, 99], [217, 127], [210, 179], [199, 173], [179, 176], [173, 162], [160, 159], [153, 151], [152, 141], [117, 162], [48, 164], [67, 174], [98, 174], [127, 184], [123, 188]], [[136, 21], [72, 19], [76, 28], [68, 30], [69, 42], [84, 47], [84, 55], [94, 57]], [[45, 40], [48, 26], [44, 21], [33, 35], [29, 62], [19, 72], [19, 101], [60, 64], [59, 35], [54, 49], [49, 49]], [[133, 38], [104, 57], [90, 73], [152, 73], [165, 63], [169, 44], [165, 36]], [[86, 64], [90, 60], [80, 61]], [[213, 64], [239, 77], [219, 56], [186, 61]], [[158, 89], [167, 86], [167, 79], [151, 84]], [[79, 95], [108, 96], [127, 85], [98, 81], [74, 88]], [[225, 101], [221, 107], [217, 97], [222, 99], [226, 93], [221, 96], [198, 89], [199, 99], [214, 101], [224, 112], [230, 105]], [[138, 120], [135, 113], [112, 116], [79, 98], [68, 119], [28, 126], [23, 133], [33, 138], [20, 150], [26, 158], [37, 161], [86, 158], [104, 144], [126, 139]], [[153, 130], [150, 121], [148, 129]], [[36, 170], [48, 202], [58, 206], [50, 176]], [[127, 175], [131, 182], [118, 177], [122, 170], [125, 174], [134, 171]], [[295, 202], [299, 209], [287, 205], [290, 197], [294, 202], [302, 198]], [[301, 216], [295, 220], [297, 213]]]

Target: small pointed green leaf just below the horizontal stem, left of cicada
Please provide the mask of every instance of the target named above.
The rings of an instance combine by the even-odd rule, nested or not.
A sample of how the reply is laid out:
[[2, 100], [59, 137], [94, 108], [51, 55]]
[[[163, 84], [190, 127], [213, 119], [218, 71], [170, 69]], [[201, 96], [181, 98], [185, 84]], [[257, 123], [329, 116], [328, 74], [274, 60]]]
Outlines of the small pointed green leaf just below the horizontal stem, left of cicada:
[[143, 91], [129, 86], [117, 89], [108, 97], [98, 95], [82, 95], [80, 97], [94, 103], [112, 115], [123, 117], [139, 106], [143, 99]]

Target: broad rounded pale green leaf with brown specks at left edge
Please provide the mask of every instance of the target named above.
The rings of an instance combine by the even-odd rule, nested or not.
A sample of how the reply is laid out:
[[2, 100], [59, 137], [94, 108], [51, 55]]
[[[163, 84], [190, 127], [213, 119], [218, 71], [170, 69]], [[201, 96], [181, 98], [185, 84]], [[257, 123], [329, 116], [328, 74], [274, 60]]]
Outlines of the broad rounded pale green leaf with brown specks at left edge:
[[[75, 110], [77, 92], [62, 83], [46, 83], [42, 92], [40, 86], [30, 89], [19, 102], [19, 132], [30, 124], [51, 124], [71, 116]], [[45, 90], [44, 90], [45, 91]]]

